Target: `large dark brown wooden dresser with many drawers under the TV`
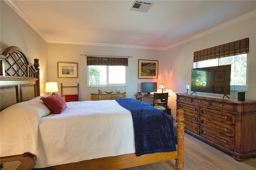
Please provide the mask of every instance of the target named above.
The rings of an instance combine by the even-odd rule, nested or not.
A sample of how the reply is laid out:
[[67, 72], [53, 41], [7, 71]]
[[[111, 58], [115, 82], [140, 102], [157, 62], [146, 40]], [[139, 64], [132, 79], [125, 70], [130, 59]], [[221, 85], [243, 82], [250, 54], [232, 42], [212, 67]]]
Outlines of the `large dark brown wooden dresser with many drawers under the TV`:
[[256, 101], [177, 93], [185, 132], [233, 156], [256, 158]]

